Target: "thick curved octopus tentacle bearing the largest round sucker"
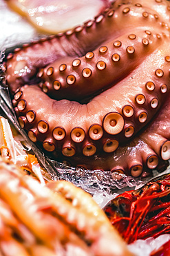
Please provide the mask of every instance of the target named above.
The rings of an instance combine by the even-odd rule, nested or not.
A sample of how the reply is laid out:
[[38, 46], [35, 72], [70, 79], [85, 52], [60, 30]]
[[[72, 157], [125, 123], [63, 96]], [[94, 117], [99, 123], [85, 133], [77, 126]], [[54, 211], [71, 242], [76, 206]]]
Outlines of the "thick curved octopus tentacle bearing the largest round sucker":
[[[167, 47], [167, 44], [164, 47]], [[156, 62], [159, 58], [162, 60], [162, 64], [157, 66], [157, 62], [153, 62], [150, 77], [147, 75], [150, 65], [148, 58], [136, 68], [136, 71], [132, 71], [126, 80], [122, 80], [111, 87], [111, 89], [100, 93], [100, 95], [96, 96], [88, 104], [80, 104], [68, 100], [50, 100], [40, 89], [36, 89], [34, 86], [25, 86], [14, 95], [14, 101], [17, 104], [21, 116], [19, 117], [19, 121], [22, 127], [25, 127], [25, 129], [38, 129], [38, 139], [41, 141], [42, 138], [44, 140], [43, 135], [46, 134], [45, 138], [50, 136], [53, 142], [49, 140], [49, 145], [52, 147], [49, 147], [48, 151], [54, 151], [57, 147], [54, 143], [56, 139], [53, 136], [56, 127], [61, 127], [61, 130], [64, 131], [60, 131], [61, 135], [67, 134], [70, 136], [71, 144], [81, 144], [85, 138], [88, 138], [89, 132], [87, 131], [92, 131], [92, 126], [97, 124], [102, 128], [103, 137], [101, 140], [103, 141], [103, 150], [105, 152], [114, 152], [119, 143], [134, 136], [141, 127], [144, 127], [151, 120], [156, 111], [160, 109], [164, 95], [169, 94], [169, 87], [166, 86], [169, 80], [169, 62], [166, 61], [167, 55], [162, 56], [162, 53], [160, 54], [159, 52], [153, 54], [150, 55], [152, 60]], [[163, 65], [164, 68], [162, 68]], [[146, 77], [146, 80], [144, 84], [141, 83], [136, 86], [136, 83], [140, 80], [138, 73], [143, 78]], [[166, 86], [166, 93], [162, 93], [161, 91], [162, 84]], [[125, 91], [122, 90], [123, 92], [120, 92], [120, 88], [125, 88]], [[35, 100], [32, 98], [32, 93], [34, 92], [37, 95], [36, 103], [33, 102]], [[125, 96], [128, 98], [126, 101], [124, 100]], [[107, 102], [105, 102], [105, 98], [107, 98]], [[49, 106], [45, 106], [47, 109], [50, 109], [48, 113], [44, 113], [43, 102], [50, 102]], [[30, 106], [33, 104], [34, 109], [30, 109]], [[41, 109], [39, 109], [40, 106]], [[30, 118], [30, 113], [32, 113], [32, 118]], [[24, 118], [23, 115], [26, 115], [27, 118]], [[55, 120], [56, 115], [58, 116], [57, 121]], [[48, 116], [51, 117], [50, 122], [47, 122], [49, 119]], [[34, 121], [32, 122], [32, 120]], [[69, 120], [70, 125], [66, 123]], [[137, 125], [134, 125], [136, 123]], [[42, 138], [39, 138], [40, 134], [42, 134]], [[95, 134], [92, 135], [92, 132], [90, 134], [92, 138], [95, 136]], [[32, 136], [30, 138], [32, 139]], [[100, 139], [100, 136], [98, 139]], [[91, 149], [93, 147], [92, 152], [95, 154], [96, 146], [93, 144], [91, 143]], [[48, 148], [47, 140], [45, 140], [45, 144], [43, 143], [43, 145], [45, 145], [45, 149]], [[67, 143], [63, 146], [62, 152], [65, 152], [65, 147], [70, 147], [70, 153], [72, 152], [70, 156], [76, 153], [74, 146], [68, 146]]]

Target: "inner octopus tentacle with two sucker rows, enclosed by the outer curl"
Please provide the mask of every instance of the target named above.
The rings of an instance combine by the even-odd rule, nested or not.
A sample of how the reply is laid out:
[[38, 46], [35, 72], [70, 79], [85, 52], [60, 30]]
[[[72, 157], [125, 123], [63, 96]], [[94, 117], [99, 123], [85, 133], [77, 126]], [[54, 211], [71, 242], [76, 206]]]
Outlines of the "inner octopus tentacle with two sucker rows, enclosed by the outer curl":
[[78, 101], [114, 86], [162, 44], [157, 34], [153, 31], [147, 35], [140, 29], [78, 59], [61, 58], [39, 71], [41, 88], [52, 98]]

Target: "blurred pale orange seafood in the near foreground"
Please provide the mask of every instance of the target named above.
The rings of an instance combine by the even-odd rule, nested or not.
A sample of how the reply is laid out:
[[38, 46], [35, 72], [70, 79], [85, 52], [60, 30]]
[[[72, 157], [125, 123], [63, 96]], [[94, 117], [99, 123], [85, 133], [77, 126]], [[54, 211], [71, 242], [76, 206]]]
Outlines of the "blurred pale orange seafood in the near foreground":
[[42, 186], [0, 158], [2, 255], [131, 255], [92, 196], [67, 181]]

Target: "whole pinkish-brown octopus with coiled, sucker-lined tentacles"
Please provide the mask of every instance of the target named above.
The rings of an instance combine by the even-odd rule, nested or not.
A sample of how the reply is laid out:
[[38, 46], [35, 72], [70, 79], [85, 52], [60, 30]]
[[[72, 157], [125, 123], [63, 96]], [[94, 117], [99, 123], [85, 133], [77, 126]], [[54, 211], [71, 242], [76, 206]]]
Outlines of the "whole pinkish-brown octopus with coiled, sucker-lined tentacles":
[[[170, 158], [170, 3], [103, 1], [94, 19], [3, 64], [22, 129], [72, 166], [147, 176]], [[69, 22], [68, 22], [69, 23]]]

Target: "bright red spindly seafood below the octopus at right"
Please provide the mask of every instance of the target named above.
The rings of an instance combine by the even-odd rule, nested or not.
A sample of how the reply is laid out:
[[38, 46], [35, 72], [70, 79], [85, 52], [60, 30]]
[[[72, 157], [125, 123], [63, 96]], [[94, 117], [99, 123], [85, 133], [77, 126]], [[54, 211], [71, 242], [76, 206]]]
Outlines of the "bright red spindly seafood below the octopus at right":
[[112, 225], [128, 244], [136, 239], [170, 232], [170, 174], [152, 179], [138, 190], [127, 191], [104, 208]]

